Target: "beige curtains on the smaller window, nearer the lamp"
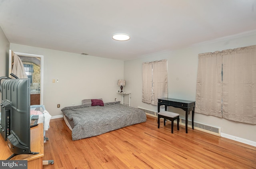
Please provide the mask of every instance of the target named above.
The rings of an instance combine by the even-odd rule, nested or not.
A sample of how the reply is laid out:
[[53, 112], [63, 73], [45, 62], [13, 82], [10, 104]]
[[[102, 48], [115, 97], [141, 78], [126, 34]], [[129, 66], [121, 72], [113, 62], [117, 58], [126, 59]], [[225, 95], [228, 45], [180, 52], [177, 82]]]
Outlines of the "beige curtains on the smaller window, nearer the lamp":
[[167, 60], [142, 63], [142, 102], [157, 105], [168, 97]]

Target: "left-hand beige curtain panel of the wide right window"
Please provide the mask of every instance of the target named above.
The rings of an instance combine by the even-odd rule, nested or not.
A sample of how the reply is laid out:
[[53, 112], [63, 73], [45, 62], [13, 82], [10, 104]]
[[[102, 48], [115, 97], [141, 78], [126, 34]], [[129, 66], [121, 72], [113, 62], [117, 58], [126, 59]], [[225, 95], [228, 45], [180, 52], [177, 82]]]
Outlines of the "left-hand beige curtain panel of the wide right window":
[[195, 112], [222, 117], [222, 56], [220, 51], [198, 56]]

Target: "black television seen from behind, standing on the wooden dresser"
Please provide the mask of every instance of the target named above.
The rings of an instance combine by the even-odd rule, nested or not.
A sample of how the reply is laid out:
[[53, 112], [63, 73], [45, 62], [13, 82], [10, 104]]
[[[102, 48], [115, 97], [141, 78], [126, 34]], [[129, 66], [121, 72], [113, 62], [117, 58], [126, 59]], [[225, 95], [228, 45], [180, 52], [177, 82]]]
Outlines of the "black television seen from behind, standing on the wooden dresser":
[[[30, 82], [29, 79], [6, 79], [2, 83], [1, 125], [12, 151], [8, 159], [30, 151]], [[3, 130], [1, 131], [3, 132]]]

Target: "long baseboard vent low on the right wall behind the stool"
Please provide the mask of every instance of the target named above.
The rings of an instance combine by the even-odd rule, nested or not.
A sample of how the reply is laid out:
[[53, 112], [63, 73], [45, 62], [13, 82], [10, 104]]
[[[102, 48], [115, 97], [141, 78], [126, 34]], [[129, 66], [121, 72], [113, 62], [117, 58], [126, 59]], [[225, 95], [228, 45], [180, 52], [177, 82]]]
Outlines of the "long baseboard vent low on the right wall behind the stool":
[[[157, 112], [146, 110], [146, 109], [139, 108], [139, 107], [138, 107], [138, 109], [144, 111], [146, 114], [148, 114], [150, 116], [157, 117]], [[176, 123], [176, 121], [174, 123]], [[185, 126], [185, 124], [186, 124], [186, 120], [184, 118], [180, 118], [180, 125]], [[188, 127], [192, 128], [192, 122], [190, 120], [188, 120]], [[220, 136], [220, 132], [221, 132], [221, 128], [209, 126], [207, 124], [201, 124], [198, 122], [194, 122], [194, 128], [197, 130], [201, 130], [201, 131], [215, 134], [218, 136]]]

